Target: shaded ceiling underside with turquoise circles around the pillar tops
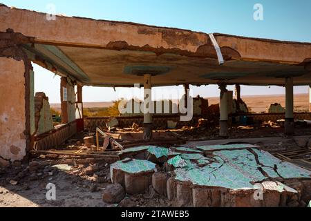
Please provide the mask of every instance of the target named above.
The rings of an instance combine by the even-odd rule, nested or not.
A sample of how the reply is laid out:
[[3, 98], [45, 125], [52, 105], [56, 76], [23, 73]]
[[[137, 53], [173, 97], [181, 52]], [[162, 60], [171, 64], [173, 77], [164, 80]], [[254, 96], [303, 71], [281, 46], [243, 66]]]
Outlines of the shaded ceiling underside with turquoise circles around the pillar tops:
[[[305, 66], [271, 61], [229, 60], [219, 65], [208, 57], [188, 57], [173, 53], [157, 55], [138, 50], [109, 50], [73, 46], [28, 45], [30, 57], [41, 57], [61, 75], [89, 86], [133, 86], [142, 84], [144, 73], [153, 75], [153, 86], [178, 84], [283, 85], [294, 77], [295, 85], [311, 84]], [[36, 59], [34, 59], [36, 60]], [[41, 64], [42, 65], [42, 64]]]

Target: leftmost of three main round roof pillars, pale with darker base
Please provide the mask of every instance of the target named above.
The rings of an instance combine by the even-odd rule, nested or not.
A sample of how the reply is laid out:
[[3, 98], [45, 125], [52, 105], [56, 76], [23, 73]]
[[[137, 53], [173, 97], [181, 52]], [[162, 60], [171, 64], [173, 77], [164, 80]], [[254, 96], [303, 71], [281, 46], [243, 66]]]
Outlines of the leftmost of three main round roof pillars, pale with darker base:
[[144, 140], [152, 140], [152, 96], [151, 96], [151, 75], [144, 75]]

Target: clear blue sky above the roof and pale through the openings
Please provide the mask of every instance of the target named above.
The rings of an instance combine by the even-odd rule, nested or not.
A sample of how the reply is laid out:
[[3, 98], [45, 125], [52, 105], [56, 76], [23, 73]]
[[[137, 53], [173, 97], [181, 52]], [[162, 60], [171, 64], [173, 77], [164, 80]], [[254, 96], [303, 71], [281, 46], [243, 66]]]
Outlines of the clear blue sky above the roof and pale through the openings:
[[[1, 1], [7, 6], [115, 21], [132, 21], [154, 26], [185, 28], [202, 32], [222, 32], [247, 37], [311, 42], [310, 0], [102, 0], [102, 1]], [[254, 4], [263, 5], [263, 21], [253, 19]], [[46, 84], [48, 82], [48, 84]], [[35, 90], [44, 91], [50, 102], [59, 102], [59, 77], [35, 66]], [[243, 86], [242, 95], [283, 94], [284, 89]], [[296, 87], [295, 93], [308, 93]], [[194, 95], [218, 96], [217, 86], [194, 87]], [[84, 88], [84, 102], [116, 99], [112, 88]]]

